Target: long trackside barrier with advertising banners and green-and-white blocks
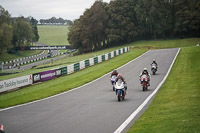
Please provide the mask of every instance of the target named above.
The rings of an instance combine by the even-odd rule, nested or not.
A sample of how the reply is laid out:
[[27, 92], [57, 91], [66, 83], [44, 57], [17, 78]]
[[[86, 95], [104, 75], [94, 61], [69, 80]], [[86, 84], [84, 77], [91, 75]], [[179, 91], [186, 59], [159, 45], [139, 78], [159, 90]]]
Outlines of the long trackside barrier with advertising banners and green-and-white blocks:
[[111, 59], [117, 55], [123, 54], [128, 51], [129, 51], [129, 47], [125, 47], [125, 48], [112, 51], [107, 54], [99, 55], [93, 58], [89, 58], [87, 60], [77, 62], [75, 64], [68, 65], [66, 67], [56, 68], [53, 70], [48, 70], [48, 71], [44, 71], [40, 73], [34, 73], [31, 75], [22, 76], [18, 78], [3, 80], [3, 81], [0, 81], [0, 92], [23, 87], [23, 86], [30, 85], [37, 82], [47, 81], [47, 80], [54, 79], [62, 75], [68, 75], [68, 74], [77, 72], [81, 69], [87, 68], [89, 66], [103, 62], [105, 60]]

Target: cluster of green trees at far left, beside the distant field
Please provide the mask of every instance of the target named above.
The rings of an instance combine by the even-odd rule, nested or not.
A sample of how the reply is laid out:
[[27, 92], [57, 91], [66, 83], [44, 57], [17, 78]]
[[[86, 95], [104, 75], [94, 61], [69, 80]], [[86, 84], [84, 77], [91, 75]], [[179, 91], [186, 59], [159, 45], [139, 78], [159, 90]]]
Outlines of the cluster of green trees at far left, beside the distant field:
[[37, 23], [33, 17], [11, 18], [9, 12], [0, 5], [0, 53], [38, 41]]

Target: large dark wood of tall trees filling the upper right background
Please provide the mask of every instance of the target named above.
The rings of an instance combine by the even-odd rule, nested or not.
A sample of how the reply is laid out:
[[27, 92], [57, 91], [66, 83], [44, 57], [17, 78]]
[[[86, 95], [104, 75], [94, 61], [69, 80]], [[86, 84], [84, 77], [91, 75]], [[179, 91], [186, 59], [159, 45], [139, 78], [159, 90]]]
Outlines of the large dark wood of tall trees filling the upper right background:
[[200, 36], [200, 0], [97, 0], [74, 21], [68, 41], [80, 52], [139, 39]]

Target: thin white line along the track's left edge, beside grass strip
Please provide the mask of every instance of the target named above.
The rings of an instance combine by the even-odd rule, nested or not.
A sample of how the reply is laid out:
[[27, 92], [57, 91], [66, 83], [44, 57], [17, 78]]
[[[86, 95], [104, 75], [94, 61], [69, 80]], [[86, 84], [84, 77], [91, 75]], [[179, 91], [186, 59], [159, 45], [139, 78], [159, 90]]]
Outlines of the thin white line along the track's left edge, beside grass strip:
[[[150, 50], [149, 50], [149, 51], [150, 51]], [[119, 68], [122, 68], [122, 67], [128, 65], [129, 63], [131, 63], [131, 62], [137, 60], [138, 58], [140, 58], [140, 57], [142, 57], [143, 55], [147, 54], [149, 51], [147, 51], [147, 52], [145, 52], [144, 54], [138, 56], [137, 58], [135, 58], [135, 59], [129, 61], [128, 63], [126, 63], [126, 64], [120, 66]], [[117, 68], [117, 69], [119, 69], [119, 68]], [[112, 72], [112, 71], [111, 71], [111, 72]], [[74, 88], [74, 89], [72, 89], [72, 90], [69, 90], [69, 91], [66, 91], [66, 92], [63, 92], [63, 93], [60, 93], [60, 94], [56, 94], [56, 95], [53, 95], [53, 96], [50, 96], [50, 97], [47, 97], [47, 98], [44, 98], [44, 99], [32, 101], [32, 102], [29, 102], [29, 103], [20, 104], [20, 105], [8, 107], [8, 108], [5, 108], [5, 109], [0, 109], [0, 112], [1, 112], [1, 111], [5, 111], [5, 110], [9, 110], [9, 109], [13, 109], [13, 108], [17, 108], [17, 107], [21, 107], [21, 106], [25, 106], [25, 105], [29, 105], [29, 104], [33, 104], [33, 103], [37, 103], [37, 102], [40, 102], [40, 101], [43, 101], [43, 100], [47, 100], [47, 99], [50, 99], [50, 98], [54, 98], [54, 97], [57, 97], [57, 96], [60, 96], [60, 95], [66, 94], [66, 93], [70, 93], [70, 92], [72, 92], [72, 91], [78, 90], [78, 89], [80, 89], [81, 87], [84, 87], [84, 86], [86, 86], [86, 85], [89, 85], [89, 84], [91, 84], [91, 83], [93, 83], [93, 82], [95, 82], [95, 81], [97, 81], [97, 80], [99, 80], [99, 79], [101, 79], [101, 78], [107, 76], [107, 75], [110, 74], [111, 72], [109, 72], [109, 73], [107, 73], [107, 74], [105, 74], [105, 75], [103, 75], [103, 76], [101, 76], [101, 77], [99, 77], [99, 78], [97, 78], [97, 79], [95, 79], [95, 80], [93, 80], [93, 81], [87, 83], [87, 84], [84, 84], [84, 85], [82, 85], [82, 86], [79, 86], [79, 87], [77, 87], [77, 88]]]

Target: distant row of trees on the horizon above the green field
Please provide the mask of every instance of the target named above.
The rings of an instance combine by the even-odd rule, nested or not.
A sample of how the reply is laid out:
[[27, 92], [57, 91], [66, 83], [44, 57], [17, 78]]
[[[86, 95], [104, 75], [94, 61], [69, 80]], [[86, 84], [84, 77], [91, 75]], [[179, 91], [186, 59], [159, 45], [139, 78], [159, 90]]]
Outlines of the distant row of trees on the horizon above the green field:
[[54, 25], [72, 25], [71, 20], [64, 20], [63, 18], [52, 17], [50, 19], [40, 19], [40, 24], [54, 24]]

